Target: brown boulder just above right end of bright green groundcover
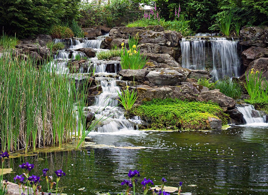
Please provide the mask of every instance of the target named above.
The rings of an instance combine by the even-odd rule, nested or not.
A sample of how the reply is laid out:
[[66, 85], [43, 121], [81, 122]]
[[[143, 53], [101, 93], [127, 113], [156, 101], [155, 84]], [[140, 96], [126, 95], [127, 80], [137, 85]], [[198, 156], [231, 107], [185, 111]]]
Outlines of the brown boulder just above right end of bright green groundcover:
[[228, 109], [232, 109], [235, 107], [235, 101], [231, 97], [227, 97], [223, 93], [220, 92], [219, 89], [211, 90], [208, 92], [200, 92], [198, 94], [200, 101], [209, 101], [216, 102], [220, 105], [220, 107], [228, 107]]

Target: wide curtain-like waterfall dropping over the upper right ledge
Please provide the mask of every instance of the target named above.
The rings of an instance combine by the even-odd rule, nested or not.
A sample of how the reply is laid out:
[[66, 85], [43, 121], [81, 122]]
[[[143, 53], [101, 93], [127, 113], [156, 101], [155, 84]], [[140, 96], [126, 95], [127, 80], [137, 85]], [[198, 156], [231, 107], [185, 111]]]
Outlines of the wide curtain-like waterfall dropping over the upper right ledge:
[[210, 67], [215, 80], [224, 76], [240, 76], [240, 58], [237, 53], [238, 40], [213, 37], [209, 33], [182, 38], [182, 66], [188, 69], [204, 70]]

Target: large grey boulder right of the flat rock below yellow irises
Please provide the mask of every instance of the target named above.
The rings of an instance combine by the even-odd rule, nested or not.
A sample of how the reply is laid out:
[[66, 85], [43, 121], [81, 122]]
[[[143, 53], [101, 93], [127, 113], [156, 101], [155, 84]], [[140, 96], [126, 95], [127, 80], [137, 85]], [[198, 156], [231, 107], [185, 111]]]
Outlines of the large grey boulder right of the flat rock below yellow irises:
[[158, 68], [150, 71], [146, 79], [155, 85], [179, 85], [181, 81], [185, 81], [190, 71], [186, 68]]

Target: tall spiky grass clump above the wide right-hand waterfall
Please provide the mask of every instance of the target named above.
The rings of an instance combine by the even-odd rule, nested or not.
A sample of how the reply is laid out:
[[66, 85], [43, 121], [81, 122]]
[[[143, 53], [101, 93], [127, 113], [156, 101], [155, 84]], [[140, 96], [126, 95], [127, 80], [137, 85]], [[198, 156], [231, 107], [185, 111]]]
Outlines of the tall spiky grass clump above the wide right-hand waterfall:
[[[226, 11], [220, 12], [217, 14], [218, 20], [216, 24], [212, 25], [212, 27], [208, 28], [209, 30], [220, 30], [223, 35], [230, 36], [231, 28], [232, 28], [232, 19], [233, 13], [229, 14]], [[240, 27], [239, 27], [240, 28]]]

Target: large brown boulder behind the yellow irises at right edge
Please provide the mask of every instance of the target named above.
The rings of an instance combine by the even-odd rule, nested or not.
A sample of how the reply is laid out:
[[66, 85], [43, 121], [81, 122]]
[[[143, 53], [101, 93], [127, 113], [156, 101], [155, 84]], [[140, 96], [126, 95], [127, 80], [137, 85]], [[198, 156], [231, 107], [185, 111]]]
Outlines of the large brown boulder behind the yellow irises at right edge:
[[[263, 71], [262, 72], [262, 78], [266, 77], [268, 78], [268, 58], [258, 58], [252, 62], [249, 63], [248, 67], [247, 67], [247, 78], [248, 78], [248, 74], [249, 72], [251, 72], [251, 69], [254, 68], [254, 71], [256, 72], [257, 70], [259, 72]], [[242, 74], [240, 77], [239, 77], [239, 80], [241, 81], [245, 81], [246, 80], [246, 76], [245, 76], [245, 73]]]

